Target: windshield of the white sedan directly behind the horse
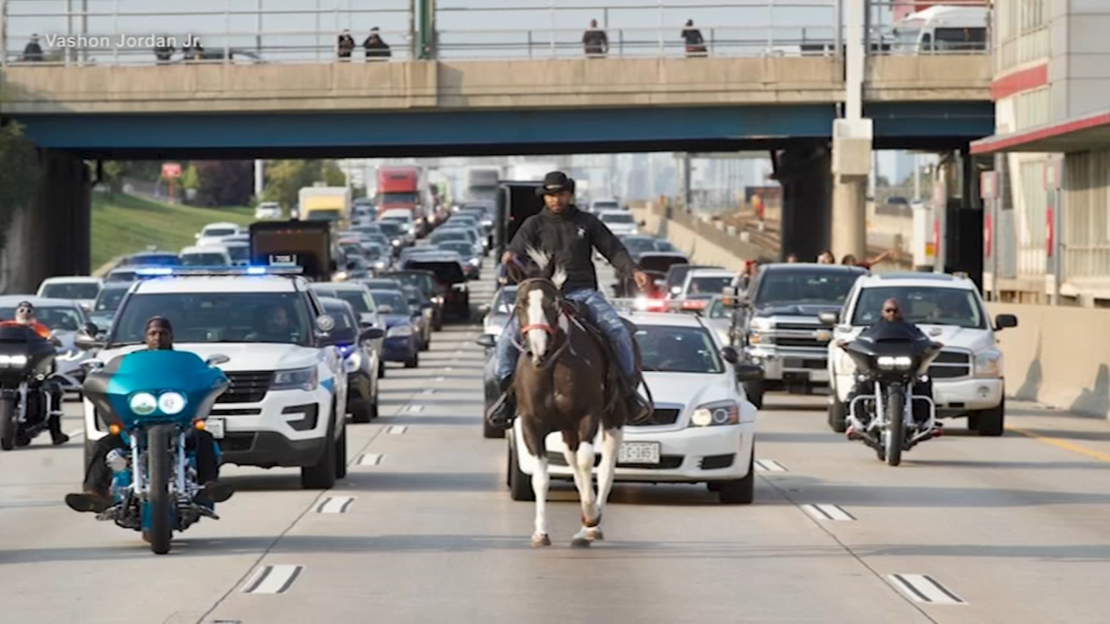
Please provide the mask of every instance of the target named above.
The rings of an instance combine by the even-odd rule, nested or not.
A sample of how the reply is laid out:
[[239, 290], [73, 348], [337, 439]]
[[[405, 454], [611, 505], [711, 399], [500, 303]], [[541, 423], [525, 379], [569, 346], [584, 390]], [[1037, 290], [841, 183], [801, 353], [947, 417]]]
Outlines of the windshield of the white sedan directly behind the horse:
[[644, 372], [719, 374], [725, 368], [709, 332], [702, 328], [639, 325]]

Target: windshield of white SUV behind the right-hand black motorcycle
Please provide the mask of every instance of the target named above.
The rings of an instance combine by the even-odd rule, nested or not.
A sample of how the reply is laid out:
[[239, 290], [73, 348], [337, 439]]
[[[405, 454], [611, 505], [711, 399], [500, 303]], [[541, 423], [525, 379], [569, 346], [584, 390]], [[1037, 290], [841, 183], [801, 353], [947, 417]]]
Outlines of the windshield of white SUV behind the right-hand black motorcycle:
[[919, 325], [987, 329], [987, 315], [975, 291], [937, 286], [875, 286], [864, 289], [851, 316], [852, 325], [870, 325], [882, 316], [882, 303], [895, 299], [902, 319]]

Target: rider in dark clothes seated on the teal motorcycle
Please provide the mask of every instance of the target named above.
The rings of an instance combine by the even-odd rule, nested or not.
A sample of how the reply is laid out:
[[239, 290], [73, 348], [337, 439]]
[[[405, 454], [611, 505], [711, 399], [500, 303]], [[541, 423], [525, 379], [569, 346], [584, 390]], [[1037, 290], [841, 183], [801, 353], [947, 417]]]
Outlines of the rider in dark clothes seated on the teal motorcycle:
[[[150, 351], [169, 351], [173, 349], [173, 325], [164, 316], [151, 316], [147, 321], [147, 349]], [[216, 459], [215, 440], [206, 431], [190, 430], [185, 436], [185, 449], [192, 450], [196, 456], [196, 481], [203, 489], [193, 497], [193, 502], [211, 506], [222, 503], [234, 493], [226, 483], [220, 483], [220, 461]], [[128, 445], [121, 435], [105, 435], [97, 441], [95, 450], [89, 460], [84, 472], [84, 492], [67, 494], [65, 504], [77, 512], [100, 513], [112, 506], [109, 487], [112, 484], [112, 470], [108, 466], [108, 454], [114, 450], [128, 453]]]

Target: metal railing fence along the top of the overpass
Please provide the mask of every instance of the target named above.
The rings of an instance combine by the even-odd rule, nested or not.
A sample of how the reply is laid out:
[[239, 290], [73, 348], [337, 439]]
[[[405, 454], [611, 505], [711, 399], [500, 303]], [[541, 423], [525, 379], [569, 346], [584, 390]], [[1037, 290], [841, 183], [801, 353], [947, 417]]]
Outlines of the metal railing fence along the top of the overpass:
[[[430, 0], [384, 0], [374, 8], [354, 8], [356, 0], [316, 0], [315, 9], [266, 8], [273, 0], [254, 1], [252, 9], [242, 8], [245, 2], [194, 0], [119, 10], [117, 0], [111, 3], [113, 10], [104, 10], [107, 2], [102, 0], [65, 0], [72, 10], [59, 10], [61, 0], [0, 0], [0, 62], [135, 66], [413, 58], [799, 57], [839, 54], [844, 49], [842, 28], [836, 26], [842, 22], [842, 0], [613, 7], [551, 0], [547, 6], [484, 8], [446, 6], [441, 0], [434, 20], [424, 23], [417, 19], [416, 6]], [[205, 10], [206, 3], [222, 4], [223, 9]], [[723, 19], [728, 22], [722, 23]], [[687, 24], [687, 20], [693, 23]], [[387, 57], [367, 57], [363, 43], [372, 28], [381, 29]], [[950, 42], [925, 50], [892, 29], [891, 24], [870, 24], [867, 37], [872, 53], [987, 51], [977, 42]], [[339, 37], [344, 30], [350, 30], [354, 43], [347, 58], [340, 56]], [[38, 38], [30, 46], [34, 34]], [[198, 39], [200, 49], [193, 44]]]

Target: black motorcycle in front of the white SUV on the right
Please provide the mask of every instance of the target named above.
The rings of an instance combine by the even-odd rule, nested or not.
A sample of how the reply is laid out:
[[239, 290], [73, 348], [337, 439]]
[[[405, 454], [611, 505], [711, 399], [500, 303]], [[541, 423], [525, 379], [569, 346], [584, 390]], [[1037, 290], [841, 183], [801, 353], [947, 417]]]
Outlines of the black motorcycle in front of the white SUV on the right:
[[902, 451], [940, 435], [926, 373], [941, 346], [901, 323], [876, 323], [841, 345], [857, 370], [857, 392], [848, 403], [849, 440], [861, 440], [879, 461], [897, 466]]

